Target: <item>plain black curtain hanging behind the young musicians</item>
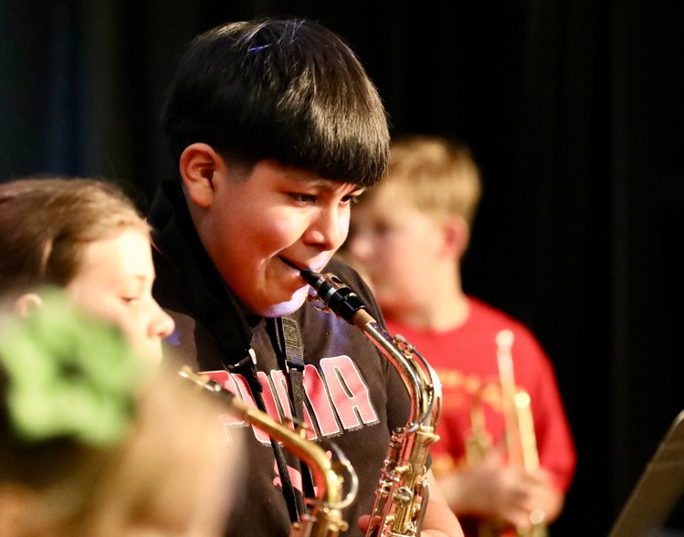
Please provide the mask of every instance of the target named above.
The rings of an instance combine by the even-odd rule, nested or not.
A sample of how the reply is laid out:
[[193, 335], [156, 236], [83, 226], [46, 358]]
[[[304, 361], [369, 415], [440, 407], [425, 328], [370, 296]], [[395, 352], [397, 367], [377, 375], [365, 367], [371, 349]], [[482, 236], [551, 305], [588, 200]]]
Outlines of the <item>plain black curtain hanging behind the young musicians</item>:
[[605, 534], [684, 408], [679, 5], [0, 0], [0, 180], [116, 178], [144, 209], [174, 173], [158, 116], [190, 39], [320, 20], [362, 59], [393, 133], [473, 148], [485, 196], [466, 289], [526, 322], [558, 375], [579, 464], [552, 533]]

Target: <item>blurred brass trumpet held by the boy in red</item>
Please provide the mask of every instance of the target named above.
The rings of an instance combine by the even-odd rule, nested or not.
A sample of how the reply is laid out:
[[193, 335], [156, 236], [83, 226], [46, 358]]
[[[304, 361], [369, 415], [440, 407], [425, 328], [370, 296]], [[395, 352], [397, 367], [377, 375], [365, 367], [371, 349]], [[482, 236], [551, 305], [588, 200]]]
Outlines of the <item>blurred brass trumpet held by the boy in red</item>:
[[[526, 391], [515, 384], [513, 359], [510, 353], [513, 346], [513, 332], [500, 331], [497, 333], [496, 342], [499, 366], [498, 384], [509, 464], [534, 470], [539, 468], [539, 454], [534, 434], [531, 399]], [[488, 385], [479, 389], [470, 410], [471, 430], [469, 436], [466, 437], [465, 445], [466, 460], [471, 465], [482, 460], [491, 447], [491, 438], [487, 433], [482, 410], [482, 394]], [[530, 523], [529, 528], [518, 528], [516, 534], [519, 537], [545, 537], [548, 534], [542, 511], [532, 511]], [[489, 522], [481, 522], [478, 534], [479, 537], [493, 537], [500, 535], [500, 531]]]

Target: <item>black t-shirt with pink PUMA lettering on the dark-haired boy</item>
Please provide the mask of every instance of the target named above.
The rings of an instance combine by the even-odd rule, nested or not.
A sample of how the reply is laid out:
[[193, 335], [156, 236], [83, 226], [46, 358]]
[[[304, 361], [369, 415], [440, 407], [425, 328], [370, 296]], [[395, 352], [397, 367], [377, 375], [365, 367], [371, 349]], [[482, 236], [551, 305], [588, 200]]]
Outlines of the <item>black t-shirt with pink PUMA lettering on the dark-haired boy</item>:
[[[158, 230], [154, 237], [154, 296], [176, 321], [170, 341], [178, 356], [253, 404], [254, 384], [250, 386], [249, 374], [228, 372], [226, 367], [245, 359], [251, 343], [268, 414], [279, 421], [292, 416], [289, 375], [273, 338], [274, 321], [240, 314], [239, 305], [222, 281], [216, 281], [216, 270], [200, 251], [194, 230], [187, 226], [183, 205], [177, 196], [175, 203], [170, 203], [173, 196], [173, 192], [171, 200], [169, 195], [158, 196], [150, 220]], [[328, 271], [356, 291], [371, 315], [382, 321], [370, 290], [353, 269], [333, 259], [325, 269]], [[358, 328], [319, 311], [313, 303], [305, 303], [290, 317], [299, 324], [306, 364], [303, 387], [308, 434], [314, 442], [322, 441], [322, 447], [324, 440], [333, 441], [351, 461], [359, 477], [359, 493], [344, 511], [350, 525], [345, 535], [361, 535], [357, 520], [372, 511], [390, 431], [404, 426], [408, 417], [405, 386], [392, 364]], [[246, 446], [240, 463], [245, 470], [226, 535], [288, 535], [288, 504], [269, 437], [232, 416], [221, 416], [220, 421], [226, 442], [239, 435]], [[300, 460], [287, 450], [285, 455], [291, 481], [301, 490]]]

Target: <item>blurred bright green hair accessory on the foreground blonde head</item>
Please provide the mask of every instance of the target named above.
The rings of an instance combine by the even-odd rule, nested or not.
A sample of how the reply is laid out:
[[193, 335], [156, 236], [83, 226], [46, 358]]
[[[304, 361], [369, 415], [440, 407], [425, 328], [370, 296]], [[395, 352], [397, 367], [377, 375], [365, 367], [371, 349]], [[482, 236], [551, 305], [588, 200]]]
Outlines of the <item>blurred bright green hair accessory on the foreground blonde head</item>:
[[88, 445], [120, 441], [132, 426], [135, 396], [151, 363], [112, 324], [77, 311], [60, 290], [0, 326], [0, 365], [16, 437], [71, 437]]

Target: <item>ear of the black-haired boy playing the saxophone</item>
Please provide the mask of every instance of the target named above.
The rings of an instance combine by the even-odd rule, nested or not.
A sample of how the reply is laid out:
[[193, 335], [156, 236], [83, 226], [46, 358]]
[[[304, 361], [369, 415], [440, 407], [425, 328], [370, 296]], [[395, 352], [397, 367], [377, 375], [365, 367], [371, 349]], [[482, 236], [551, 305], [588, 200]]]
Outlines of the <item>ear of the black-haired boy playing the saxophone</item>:
[[195, 205], [211, 205], [215, 192], [216, 172], [225, 163], [211, 145], [196, 142], [185, 148], [179, 163], [179, 171], [190, 199]]

